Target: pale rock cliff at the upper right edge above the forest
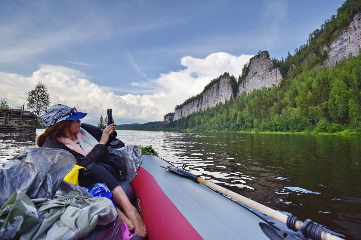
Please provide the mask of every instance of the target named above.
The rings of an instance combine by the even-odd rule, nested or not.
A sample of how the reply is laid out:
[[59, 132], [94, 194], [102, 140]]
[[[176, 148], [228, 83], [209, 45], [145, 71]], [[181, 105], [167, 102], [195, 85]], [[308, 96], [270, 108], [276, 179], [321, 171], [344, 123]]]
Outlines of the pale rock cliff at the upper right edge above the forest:
[[355, 15], [347, 30], [341, 32], [338, 37], [331, 42], [330, 46], [326, 46], [328, 59], [325, 65], [332, 66], [340, 62], [343, 58], [347, 58], [350, 53], [357, 56], [360, 53], [361, 46], [361, 13]]

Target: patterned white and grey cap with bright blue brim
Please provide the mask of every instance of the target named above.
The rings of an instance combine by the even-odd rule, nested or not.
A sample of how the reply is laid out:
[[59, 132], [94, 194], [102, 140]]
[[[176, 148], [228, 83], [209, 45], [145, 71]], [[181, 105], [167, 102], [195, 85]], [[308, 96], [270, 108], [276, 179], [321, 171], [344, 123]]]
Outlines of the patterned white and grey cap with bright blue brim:
[[42, 116], [45, 126], [49, 127], [63, 120], [79, 120], [87, 113], [78, 112], [75, 107], [70, 108], [64, 104], [52, 105]]

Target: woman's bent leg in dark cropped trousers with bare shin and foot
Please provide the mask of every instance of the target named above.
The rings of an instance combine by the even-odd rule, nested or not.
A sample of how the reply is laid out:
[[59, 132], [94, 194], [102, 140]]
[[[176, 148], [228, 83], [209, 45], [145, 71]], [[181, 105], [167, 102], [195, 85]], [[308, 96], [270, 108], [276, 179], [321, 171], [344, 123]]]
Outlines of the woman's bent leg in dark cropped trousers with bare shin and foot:
[[134, 227], [135, 232], [145, 237], [147, 232], [142, 216], [140, 216], [138, 210], [130, 203], [127, 195], [116, 180], [119, 174], [117, 167], [105, 163], [92, 163], [87, 166], [87, 169], [89, 169], [90, 177], [94, 182], [104, 182], [106, 186], [108, 186], [109, 190], [113, 193], [116, 205], [123, 210], [125, 216], [132, 224], [129, 225], [127, 221], [123, 222], [127, 223], [130, 229]]

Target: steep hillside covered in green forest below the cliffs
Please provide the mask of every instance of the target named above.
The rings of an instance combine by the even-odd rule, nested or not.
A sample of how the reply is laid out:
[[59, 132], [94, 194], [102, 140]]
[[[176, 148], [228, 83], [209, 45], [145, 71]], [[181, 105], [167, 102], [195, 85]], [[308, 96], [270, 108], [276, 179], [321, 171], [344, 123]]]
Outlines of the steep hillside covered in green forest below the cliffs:
[[[324, 64], [325, 46], [345, 30], [361, 1], [347, 0], [337, 15], [310, 33], [294, 55], [273, 59], [280, 86], [243, 92], [238, 99], [166, 124], [169, 130], [361, 132], [361, 55]], [[238, 84], [247, 74], [245, 65]], [[197, 96], [195, 96], [197, 97]]]

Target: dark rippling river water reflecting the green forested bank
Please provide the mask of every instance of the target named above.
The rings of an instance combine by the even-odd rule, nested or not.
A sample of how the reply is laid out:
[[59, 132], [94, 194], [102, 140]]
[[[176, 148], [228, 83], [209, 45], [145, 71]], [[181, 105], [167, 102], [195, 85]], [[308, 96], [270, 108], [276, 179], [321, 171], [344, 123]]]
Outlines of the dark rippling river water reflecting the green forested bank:
[[[0, 133], [0, 164], [36, 133]], [[346, 239], [361, 239], [361, 137], [118, 130], [176, 166]]]

